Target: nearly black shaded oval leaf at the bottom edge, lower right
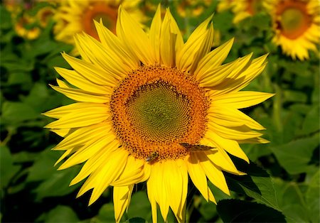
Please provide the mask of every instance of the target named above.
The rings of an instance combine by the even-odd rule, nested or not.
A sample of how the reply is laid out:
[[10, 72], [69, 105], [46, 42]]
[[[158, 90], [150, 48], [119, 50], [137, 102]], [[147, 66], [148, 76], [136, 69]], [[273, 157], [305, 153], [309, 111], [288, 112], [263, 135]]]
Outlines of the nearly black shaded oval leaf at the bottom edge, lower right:
[[286, 222], [281, 212], [244, 200], [220, 200], [217, 211], [223, 222]]

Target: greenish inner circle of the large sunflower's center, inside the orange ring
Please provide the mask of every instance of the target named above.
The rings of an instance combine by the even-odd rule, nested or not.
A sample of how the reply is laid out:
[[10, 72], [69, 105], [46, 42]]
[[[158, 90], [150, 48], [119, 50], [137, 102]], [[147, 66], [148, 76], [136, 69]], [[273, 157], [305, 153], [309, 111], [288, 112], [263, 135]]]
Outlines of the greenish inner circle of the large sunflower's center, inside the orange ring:
[[190, 102], [166, 82], [140, 87], [128, 100], [132, 127], [149, 141], [181, 138], [188, 130]]

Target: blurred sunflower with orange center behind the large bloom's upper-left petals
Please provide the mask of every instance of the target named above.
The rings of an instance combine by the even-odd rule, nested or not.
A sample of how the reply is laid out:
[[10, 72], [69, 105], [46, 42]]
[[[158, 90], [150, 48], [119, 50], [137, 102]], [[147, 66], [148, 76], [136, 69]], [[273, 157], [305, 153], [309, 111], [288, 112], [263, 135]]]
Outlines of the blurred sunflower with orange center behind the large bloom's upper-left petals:
[[83, 0], [61, 1], [55, 14], [54, 33], [56, 40], [74, 44], [75, 33], [85, 33], [98, 39], [94, 20], [100, 21], [113, 33], [116, 31], [117, 9], [120, 4], [137, 21], [144, 21], [144, 15], [138, 9], [141, 0]]

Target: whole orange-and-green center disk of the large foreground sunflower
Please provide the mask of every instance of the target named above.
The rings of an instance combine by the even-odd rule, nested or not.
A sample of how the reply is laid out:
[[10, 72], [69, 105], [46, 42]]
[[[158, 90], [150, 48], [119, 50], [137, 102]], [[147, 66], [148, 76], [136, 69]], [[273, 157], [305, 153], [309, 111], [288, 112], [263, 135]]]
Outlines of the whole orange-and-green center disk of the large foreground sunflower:
[[114, 89], [114, 130], [136, 158], [161, 161], [186, 156], [180, 143], [198, 143], [206, 130], [206, 92], [188, 73], [161, 65], [139, 67]]

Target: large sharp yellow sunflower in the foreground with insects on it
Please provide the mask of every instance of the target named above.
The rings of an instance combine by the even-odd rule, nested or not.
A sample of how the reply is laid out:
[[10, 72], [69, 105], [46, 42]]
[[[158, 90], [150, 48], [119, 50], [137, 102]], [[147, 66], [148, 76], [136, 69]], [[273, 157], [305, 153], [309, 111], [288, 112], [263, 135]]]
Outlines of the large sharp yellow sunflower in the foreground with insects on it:
[[[183, 43], [169, 9], [156, 10], [147, 35], [122, 6], [117, 36], [95, 23], [100, 41], [82, 33], [82, 59], [63, 53], [73, 70], [56, 67], [66, 81], [52, 86], [77, 101], [46, 112], [58, 119], [46, 128], [63, 136], [59, 170], [85, 163], [70, 185], [85, 180], [89, 205], [113, 186], [116, 222], [127, 209], [134, 184], [146, 181], [153, 222], [157, 205], [185, 220], [188, 176], [207, 201], [208, 180], [230, 195], [223, 171], [242, 175], [228, 153], [248, 158], [239, 143], [267, 143], [263, 126], [240, 112], [272, 97], [241, 91], [265, 68], [267, 55], [252, 53], [223, 64], [233, 39], [210, 51], [212, 16]], [[66, 158], [66, 159], [65, 159]]]

